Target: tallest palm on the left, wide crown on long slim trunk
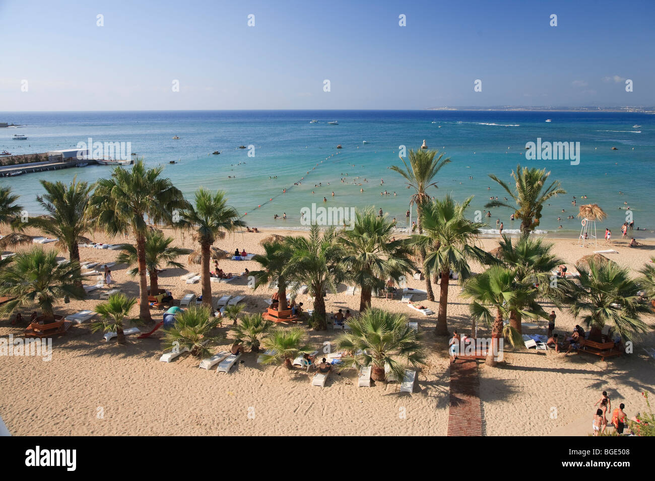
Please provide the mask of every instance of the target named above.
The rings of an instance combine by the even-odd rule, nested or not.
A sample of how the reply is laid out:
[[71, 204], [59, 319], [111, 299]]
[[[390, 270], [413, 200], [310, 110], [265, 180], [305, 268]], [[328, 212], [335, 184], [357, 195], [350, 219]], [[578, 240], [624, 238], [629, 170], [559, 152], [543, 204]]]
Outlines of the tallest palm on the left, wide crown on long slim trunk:
[[139, 262], [139, 315], [143, 321], [152, 321], [148, 307], [145, 271], [145, 236], [153, 223], [171, 224], [174, 213], [186, 209], [189, 203], [170, 179], [160, 177], [163, 168], [146, 169], [143, 159], [137, 160], [131, 170], [113, 169], [111, 179], [99, 179], [90, 199], [90, 215], [96, 228], [110, 236], [132, 232], [136, 236]]

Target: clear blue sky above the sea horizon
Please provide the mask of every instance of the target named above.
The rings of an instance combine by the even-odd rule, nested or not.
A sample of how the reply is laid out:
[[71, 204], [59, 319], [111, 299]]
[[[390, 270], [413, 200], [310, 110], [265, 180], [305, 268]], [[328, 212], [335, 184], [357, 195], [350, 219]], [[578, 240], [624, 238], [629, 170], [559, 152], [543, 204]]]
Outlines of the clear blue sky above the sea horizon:
[[0, 0], [0, 111], [650, 107], [654, 18], [653, 0]]

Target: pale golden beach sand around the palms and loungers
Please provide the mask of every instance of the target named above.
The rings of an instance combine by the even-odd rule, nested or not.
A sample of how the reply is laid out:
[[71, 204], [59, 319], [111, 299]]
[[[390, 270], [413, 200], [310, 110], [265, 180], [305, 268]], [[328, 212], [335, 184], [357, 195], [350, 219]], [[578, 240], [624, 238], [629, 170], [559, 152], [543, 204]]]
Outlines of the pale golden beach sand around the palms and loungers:
[[[191, 245], [191, 235], [170, 232], [176, 245]], [[37, 232], [31, 232], [37, 234]], [[264, 230], [260, 234], [238, 232], [217, 247], [233, 252], [263, 251], [259, 245], [266, 236], [303, 235], [302, 232]], [[96, 242], [118, 243], [96, 234]], [[134, 242], [134, 239], [128, 241]], [[496, 239], [479, 241], [487, 251], [497, 246]], [[575, 240], [554, 240], [553, 252], [564, 258], [570, 267], [594, 250], [616, 249], [607, 257], [629, 266], [636, 275], [651, 255], [655, 241], [631, 249], [627, 241], [616, 240], [611, 246], [578, 247]], [[53, 243], [45, 248], [55, 249]], [[25, 249], [26, 247], [20, 247]], [[82, 260], [109, 262], [119, 251], [81, 249]], [[66, 253], [60, 252], [62, 257]], [[187, 285], [179, 277], [199, 272], [200, 266], [187, 265], [186, 256], [179, 262], [185, 269], [167, 268], [160, 274], [159, 284], [172, 291], [179, 300], [184, 294], [200, 294], [200, 284]], [[252, 261], [221, 260], [225, 272], [255, 270]], [[474, 272], [481, 266], [473, 265]], [[127, 267], [112, 268], [114, 281], [124, 293], [138, 295], [136, 279], [128, 276]], [[94, 282], [90, 282], [94, 283]], [[408, 287], [424, 289], [424, 282], [407, 281]], [[67, 315], [92, 309], [100, 303], [99, 289], [86, 300], [60, 304], [57, 313]], [[339, 308], [356, 312], [359, 296], [345, 294], [346, 287], [329, 293], [327, 312]], [[231, 283], [212, 283], [214, 298], [223, 294], [246, 295], [246, 313], [262, 312], [272, 289], [253, 291], [245, 276]], [[436, 291], [438, 294], [438, 291]], [[470, 332], [468, 303], [458, 295], [458, 285], [449, 291], [449, 329]], [[310, 307], [307, 294], [300, 302]], [[420, 302], [436, 312], [437, 303]], [[398, 299], [373, 298], [373, 306], [402, 312], [419, 323], [422, 344], [428, 363], [419, 372], [413, 393], [399, 393], [398, 383], [371, 383], [357, 387], [355, 372], [334, 373], [325, 388], [310, 385], [310, 374], [301, 368], [288, 371], [284, 367], [257, 364], [257, 355], [246, 353], [243, 363], [229, 374], [198, 368], [199, 359], [181, 355], [173, 363], [161, 363], [162, 332], [137, 340], [128, 336], [128, 343], [105, 343], [100, 332], [92, 334], [88, 323], [73, 325], [64, 336], [53, 340], [52, 360], [39, 357], [3, 357], [0, 359], [0, 416], [12, 435], [445, 435], [449, 402], [449, 356], [447, 338], [434, 336], [436, 315], [423, 316], [409, 310]], [[546, 305], [550, 310], [550, 304]], [[27, 313], [27, 310], [22, 312]], [[576, 324], [571, 313], [557, 312], [555, 332], [571, 332]], [[138, 315], [138, 306], [132, 315]], [[153, 319], [161, 319], [161, 311], [153, 310]], [[648, 319], [652, 323], [652, 317]], [[546, 322], [541, 321], [545, 326]], [[23, 327], [24, 328], [24, 327]], [[0, 336], [18, 336], [23, 328], [0, 321]], [[151, 328], [141, 330], [150, 330]], [[229, 327], [218, 328], [227, 334]], [[307, 330], [309, 340], [318, 349], [336, 333]], [[546, 329], [523, 328], [524, 333], [545, 334]], [[480, 336], [489, 330], [479, 330]], [[642, 346], [655, 346], [650, 332], [635, 342], [634, 352], [603, 362], [595, 356], [573, 354], [565, 357], [553, 351], [513, 351], [506, 347], [504, 365], [488, 368], [479, 363], [480, 393], [487, 435], [587, 435], [591, 431], [593, 403], [603, 390], [608, 391], [612, 406], [626, 404], [628, 416], [645, 409], [643, 391], [655, 391], [655, 360]], [[229, 347], [226, 341], [215, 351]]]

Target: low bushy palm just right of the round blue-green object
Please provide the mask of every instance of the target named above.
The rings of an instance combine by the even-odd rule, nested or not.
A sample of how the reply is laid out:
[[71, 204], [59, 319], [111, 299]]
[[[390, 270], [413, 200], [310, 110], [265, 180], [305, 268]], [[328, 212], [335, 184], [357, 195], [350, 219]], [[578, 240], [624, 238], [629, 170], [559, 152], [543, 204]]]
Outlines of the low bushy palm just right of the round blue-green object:
[[175, 316], [175, 323], [164, 331], [164, 349], [188, 350], [196, 357], [208, 357], [211, 344], [218, 344], [220, 336], [210, 332], [218, 325], [218, 317], [207, 306], [189, 306]]

